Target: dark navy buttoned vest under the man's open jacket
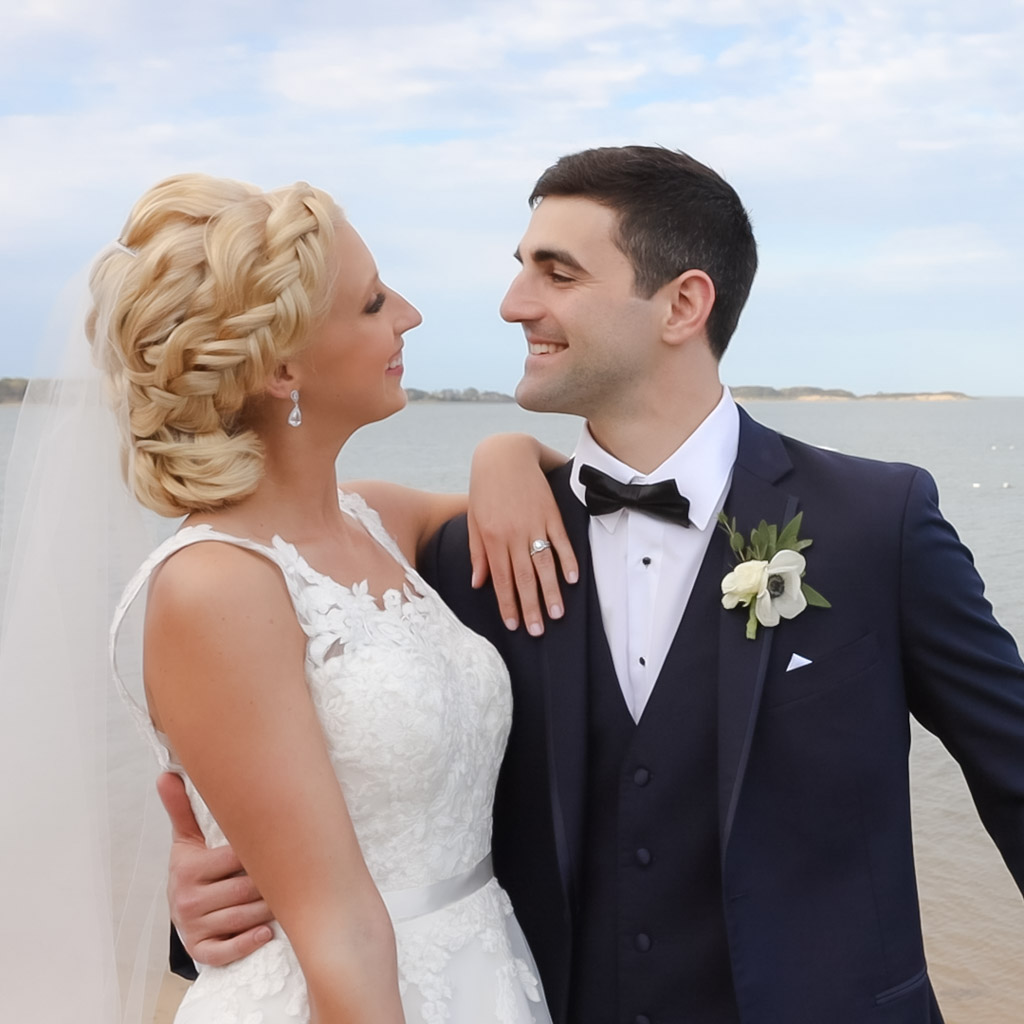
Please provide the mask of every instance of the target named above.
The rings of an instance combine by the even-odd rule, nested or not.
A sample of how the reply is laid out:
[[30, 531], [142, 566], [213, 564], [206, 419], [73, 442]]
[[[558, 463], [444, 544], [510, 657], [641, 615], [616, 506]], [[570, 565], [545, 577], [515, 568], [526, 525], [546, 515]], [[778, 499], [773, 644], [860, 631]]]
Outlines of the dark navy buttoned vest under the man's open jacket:
[[[738, 1024], [717, 805], [716, 531], [657, 685], [634, 724], [597, 593], [572, 1024]], [[708, 595], [711, 595], [709, 599]]]

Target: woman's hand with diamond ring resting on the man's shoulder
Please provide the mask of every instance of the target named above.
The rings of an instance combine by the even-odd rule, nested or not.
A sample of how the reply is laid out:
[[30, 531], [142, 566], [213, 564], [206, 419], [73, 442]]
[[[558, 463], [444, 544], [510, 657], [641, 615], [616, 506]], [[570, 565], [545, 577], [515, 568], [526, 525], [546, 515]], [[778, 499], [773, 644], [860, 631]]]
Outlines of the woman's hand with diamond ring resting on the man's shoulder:
[[[572, 546], [544, 475], [565, 461], [528, 434], [495, 434], [473, 454], [467, 517], [473, 586], [481, 587], [489, 573], [505, 625], [516, 629], [521, 609], [532, 636], [544, 632], [542, 600], [552, 618], [562, 616], [558, 566], [567, 583], [579, 579]], [[531, 554], [538, 540], [551, 547]]]

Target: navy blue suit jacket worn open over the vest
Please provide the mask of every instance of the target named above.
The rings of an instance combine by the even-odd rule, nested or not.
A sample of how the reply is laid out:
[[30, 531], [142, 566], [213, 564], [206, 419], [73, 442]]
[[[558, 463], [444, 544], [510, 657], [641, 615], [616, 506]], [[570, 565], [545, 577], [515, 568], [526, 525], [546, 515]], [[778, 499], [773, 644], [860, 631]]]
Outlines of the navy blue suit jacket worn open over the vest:
[[[587, 515], [552, 486], [582, 563], [543, 638], [472, 591], [464, 519], [428, 580], [512, 676], [495, 863], [556, 1021], [570, 985], [586, 771]], [[959, 762], [1024, 891], [1024, 665], [923, 470], [824, 452], [741, 413], [726, 512], [749, 534], [804, 513], [807, 582], [831, 607], [744, 637], [721, 609], [717, 788], [724, 911], [744, 1024], [935, 1024], [910, 834], [908, 713]], [[717, 584], [732, 567], [711, 573]], [[697, 593], [696, 601], [721, 601]], [[794, 653], [811, 664], [787, 672]], [[673, 685], [663, 672], [657, 685]], [[672, 722], [662, 723], [672, 729]], [[685, 912], [680, 907], [678, 912]], [[1019, 913], [1014, 907], [1008, 912]]]

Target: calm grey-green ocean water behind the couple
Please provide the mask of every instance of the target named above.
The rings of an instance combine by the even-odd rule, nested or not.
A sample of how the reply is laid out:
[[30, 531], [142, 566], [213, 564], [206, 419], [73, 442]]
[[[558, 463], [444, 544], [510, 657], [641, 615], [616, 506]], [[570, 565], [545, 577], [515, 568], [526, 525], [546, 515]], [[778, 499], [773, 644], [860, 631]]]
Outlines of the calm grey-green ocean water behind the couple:
[[[974, 552], [997, 616], [1024, 643], [1024, 398], [745, 408], [803, 440], [930, 470], [946, 517]], [[0, 407], [0, 476], [16, 415], [16, 407]], [[480, 437], [527, 430], [570, 452], [579, 424], [511, 404], [418, 403], [360, 431], [339, 460], [339, 475], [463, 489]], [[1024, 901], [978, 820], [956, 765], [916, 728], [911, 773], [929, 964], [946, 1022], [1020, 1024]]]

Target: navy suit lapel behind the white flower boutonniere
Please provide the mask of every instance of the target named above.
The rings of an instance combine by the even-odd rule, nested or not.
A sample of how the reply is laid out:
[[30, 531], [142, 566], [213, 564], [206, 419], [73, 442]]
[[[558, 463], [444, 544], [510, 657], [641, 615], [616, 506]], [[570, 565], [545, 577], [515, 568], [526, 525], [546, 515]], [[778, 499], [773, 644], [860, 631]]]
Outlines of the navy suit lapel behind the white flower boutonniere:
[[[739, 451], [725, 513], [750, 536], [762, 519], [779, 526], [797, 512], [797, 499], [778, 485], [792, 463], [779, 435], [740, 410]], [[714, 549], [712, 549], [714, 550]], [[734, 565], [726, 548], [724, 577]], [[722, 577], [716, 581], [719, 585]], [[721, 600], [721, 591], [714, 597]], [[754, 739], [761, 693], [774, 630], [761, 628], [756, 640], [745, 637], [746, 610], [724, 607], [719, 615], [718, 785], [722, 856], [732, 831], [736, 804]]]

